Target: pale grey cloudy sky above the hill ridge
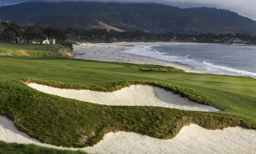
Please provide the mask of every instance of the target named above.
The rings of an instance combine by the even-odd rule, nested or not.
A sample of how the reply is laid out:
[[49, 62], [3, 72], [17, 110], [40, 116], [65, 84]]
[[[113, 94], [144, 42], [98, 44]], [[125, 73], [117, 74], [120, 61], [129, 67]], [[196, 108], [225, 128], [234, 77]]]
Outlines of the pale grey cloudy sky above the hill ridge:
[[[32, 1], [78, 1], [78, 0], [0, 0], [0, 5], [12, 5], [23, 2], [32, 2]], [[81, 1], [81, 0], [79, 0]], [[85, 1], [85, 0], [84, 0]], [[93, 0], [90, 0], [93, 1]], [[245, 17], [249, 17], [253, 20], [256, 20], [256, 0], [95, 0], [95, 1], [116, 1], [116, 2], [154, 2], [154, 3], [163, 3], [171, 6], [177, 6], [180, 8], [186, 7], [216, 7], [230, 9], [235, 11], [238, 14], [241, 14]]]

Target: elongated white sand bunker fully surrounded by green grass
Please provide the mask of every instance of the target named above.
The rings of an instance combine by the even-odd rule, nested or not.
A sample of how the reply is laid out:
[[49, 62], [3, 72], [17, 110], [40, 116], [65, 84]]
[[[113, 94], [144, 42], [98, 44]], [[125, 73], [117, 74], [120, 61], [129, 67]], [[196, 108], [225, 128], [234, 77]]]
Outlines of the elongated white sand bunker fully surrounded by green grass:
[[122, 105], [122, 106], [159, 106], [190, 111], [219, 111], [212, 106], [194, 103], [188, 98], [182, 98], [172, 92], [149, 85], [132, 85], [122, 88], [115, 92], [97, 92], [92, 90], [67, 90], [30, 83], [38, 91], [64, 98], [87, 101], [103, 105]]

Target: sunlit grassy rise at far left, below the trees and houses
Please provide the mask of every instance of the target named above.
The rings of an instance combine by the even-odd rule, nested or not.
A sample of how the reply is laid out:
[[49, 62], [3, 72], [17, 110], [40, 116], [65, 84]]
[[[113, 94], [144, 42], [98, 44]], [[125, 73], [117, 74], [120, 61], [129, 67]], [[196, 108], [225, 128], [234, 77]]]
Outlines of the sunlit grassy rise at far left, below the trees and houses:
[[67, 57], [67, 53], [58, 52], [63, 48], [65, 47], [62, 45], [14, 45], [0, 42], [0, 53], [12, 56]]

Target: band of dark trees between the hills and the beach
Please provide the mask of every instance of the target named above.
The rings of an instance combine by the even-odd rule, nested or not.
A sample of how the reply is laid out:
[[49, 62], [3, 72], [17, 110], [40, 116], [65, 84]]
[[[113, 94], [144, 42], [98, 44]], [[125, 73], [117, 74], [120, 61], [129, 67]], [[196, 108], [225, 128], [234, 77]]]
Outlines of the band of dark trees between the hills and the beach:
[[[0, 42], [15, 43], [15, 38], [20, 37], [26, 42], [33, 40], [39, 44], [40, 40], [46, 38], [56, 39], [56, 44], [68, 45], [76, 42], [201, 42], [201, 43], [239, 43], [256, 44], [256, 36], [250, 34], [174, 34], [160, 33], [151, 34], [143, 31], [118, 32], [106, 29], [75, 29], [75, 28], [55, 28], [41, 26], [20, 26], [17, 22], [2, 22], [0, 24]], [[31, 42], [31, 41], [30, 41]]]

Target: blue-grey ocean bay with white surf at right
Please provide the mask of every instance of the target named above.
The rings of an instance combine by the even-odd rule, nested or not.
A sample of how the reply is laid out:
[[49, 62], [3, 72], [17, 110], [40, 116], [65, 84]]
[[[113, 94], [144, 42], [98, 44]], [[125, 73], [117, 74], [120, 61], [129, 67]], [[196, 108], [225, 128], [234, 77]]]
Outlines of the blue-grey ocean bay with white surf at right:
[[138, 45], [125, 52], [177, 62], [213, 74], [256, 78], [256, 46], [222, 44]]

